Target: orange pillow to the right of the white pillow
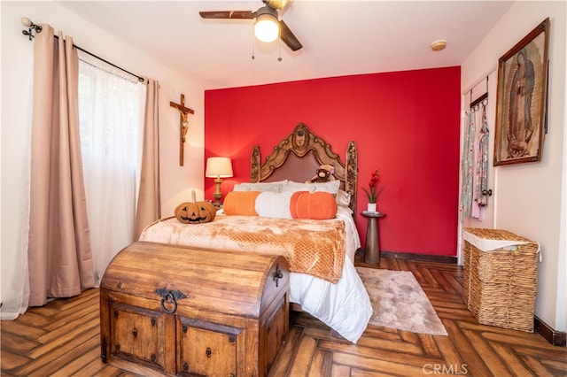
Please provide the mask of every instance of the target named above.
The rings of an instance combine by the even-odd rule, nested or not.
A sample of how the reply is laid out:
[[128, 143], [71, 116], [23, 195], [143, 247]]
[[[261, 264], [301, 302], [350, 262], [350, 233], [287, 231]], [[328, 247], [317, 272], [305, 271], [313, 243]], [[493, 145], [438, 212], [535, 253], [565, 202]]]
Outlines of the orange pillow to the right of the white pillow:
[[290, 200], [293, 219], [334, 219], [337, 215], [337, 200], [328, 192], [294, 192]]

